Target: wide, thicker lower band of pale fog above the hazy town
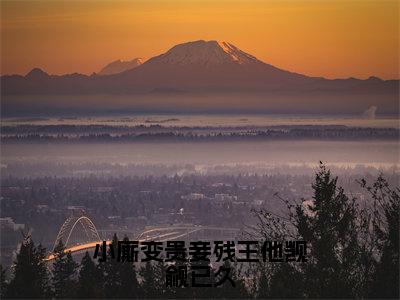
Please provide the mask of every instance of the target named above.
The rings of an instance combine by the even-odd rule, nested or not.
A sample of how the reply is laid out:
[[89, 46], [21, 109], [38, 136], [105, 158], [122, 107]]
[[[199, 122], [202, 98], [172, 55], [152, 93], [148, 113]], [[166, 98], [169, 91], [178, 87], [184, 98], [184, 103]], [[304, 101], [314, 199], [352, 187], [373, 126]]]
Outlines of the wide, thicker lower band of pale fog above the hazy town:
[[[193, 165], [399, 165], [397, 141], [266, 141], [204, 143], [3, 144], [2, 168], [10, 163], [110, 163]], [[21, 174], [20, 174], [21, 175]]]

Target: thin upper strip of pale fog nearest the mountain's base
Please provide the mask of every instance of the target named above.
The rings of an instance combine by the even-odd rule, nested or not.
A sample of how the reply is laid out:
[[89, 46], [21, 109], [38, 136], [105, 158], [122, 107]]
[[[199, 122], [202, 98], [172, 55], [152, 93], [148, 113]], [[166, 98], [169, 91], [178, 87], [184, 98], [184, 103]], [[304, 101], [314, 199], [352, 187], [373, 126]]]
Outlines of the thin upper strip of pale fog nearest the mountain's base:
[[[372, 118], [371, 118], [372, 117]], [[129, 114], [126, 116], [3, 118], [2, 125], [113, 125], [113, 126], [279, 126], [344, 125], [399, 128], [397, 116], [295, 114]]]

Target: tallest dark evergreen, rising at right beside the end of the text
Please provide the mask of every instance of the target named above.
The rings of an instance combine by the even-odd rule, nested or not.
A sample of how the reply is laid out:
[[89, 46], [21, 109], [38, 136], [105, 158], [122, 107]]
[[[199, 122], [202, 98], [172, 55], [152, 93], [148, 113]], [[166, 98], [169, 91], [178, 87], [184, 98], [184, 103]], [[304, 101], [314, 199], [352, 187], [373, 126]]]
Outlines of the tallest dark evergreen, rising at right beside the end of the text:
[[312, 204], [296, 207], [297, 231], [311, 246], [305, 266], [306, 296], [354, 297], [359, 250], [355, 200], [337, 187], [337, 177], [332, 178], [322, 163], [312, 188]]

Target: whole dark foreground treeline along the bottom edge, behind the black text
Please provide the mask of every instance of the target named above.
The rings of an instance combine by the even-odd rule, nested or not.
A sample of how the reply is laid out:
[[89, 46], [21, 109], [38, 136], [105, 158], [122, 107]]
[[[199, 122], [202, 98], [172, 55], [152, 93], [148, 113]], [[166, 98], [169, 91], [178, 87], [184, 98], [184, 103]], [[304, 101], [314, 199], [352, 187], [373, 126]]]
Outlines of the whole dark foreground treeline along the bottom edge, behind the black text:
[[[108, 260], [95, 263], [88, 253], [80, 264], [60, 245], [51, 271], [45, 250], [27, 237], [6, 280], [1, 270], [1, 296], [10, 298], [399, 298], [400, 189], [379, 176], [362, 204], [348, 197], [337, 178], [321, 165], [313, 199], [281, 199], [287, 214], [256, 212], [257, 238], [298, 239], [309, 245], [304, 263], [253, 264], [235, 268], [229, 282], [215, 288], [167, 288], [165, 266]], [[278, 195], [279, 197], [279, 195]]]

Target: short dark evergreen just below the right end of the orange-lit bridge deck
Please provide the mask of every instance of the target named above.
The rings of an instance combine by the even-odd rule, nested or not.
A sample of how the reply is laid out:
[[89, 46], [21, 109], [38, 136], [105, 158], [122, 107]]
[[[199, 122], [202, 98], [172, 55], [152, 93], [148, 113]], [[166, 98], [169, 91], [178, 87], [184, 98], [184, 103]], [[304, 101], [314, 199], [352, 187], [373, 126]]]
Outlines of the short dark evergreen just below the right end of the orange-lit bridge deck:
[[101, 289], [101, 273], [99, 268], [93, 262], [86, 251], [82, 258], [79, 275], [78, 275], [78, 290], [79, 298], [100, 298], [103, 296]]

